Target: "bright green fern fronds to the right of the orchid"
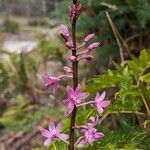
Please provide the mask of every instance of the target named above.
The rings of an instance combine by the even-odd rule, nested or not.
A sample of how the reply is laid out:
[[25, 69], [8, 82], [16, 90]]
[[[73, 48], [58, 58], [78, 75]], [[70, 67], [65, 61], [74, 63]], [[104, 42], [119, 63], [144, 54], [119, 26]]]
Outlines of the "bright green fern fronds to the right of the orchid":
[[[143, 50], [139, 58], [133, 58], [124, 65], [117, 65], [116, 70], [96, 76], [88, 84], [91, 94], [108, 88], [116, 88], [114, 103], [108, 111], [141, 111], [143, 102], [141, 95], [149, 100], [149, 68], [150, 52]], [[148, 73], [147, 73], [148, 71]]]

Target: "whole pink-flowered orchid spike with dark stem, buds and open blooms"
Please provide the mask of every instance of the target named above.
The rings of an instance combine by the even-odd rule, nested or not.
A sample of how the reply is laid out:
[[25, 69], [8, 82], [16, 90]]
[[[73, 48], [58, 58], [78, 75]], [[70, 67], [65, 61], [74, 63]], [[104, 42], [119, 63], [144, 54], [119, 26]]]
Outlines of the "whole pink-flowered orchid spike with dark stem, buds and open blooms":
[[[99, 123], [98, 116], [94, 118], [90, 117], [90, 122], [85, 125], [76, 126], [76, 114], [77, 109], [82, 106], [91, 105], [92, 107], [96, 107], [97, 111], [101, 115], [104, 109], [110, 104], [110, 101], [105, 100], [105, 92], [101, 95], [99, 93], [96, 94], [96, 97], [92, 101], [85, 102], [85, 99], [89, 96], [86, 92], [81, 92], [81, 85], [79, 84], [78, 79], [78, 64], [81, 60], [92, 61], [93, 56], [92, 52], [99, 47], [99, 42], [91, 43], [95, 34], [89, 34], [85, 38], [83, 38], [81, 44], [77, 45], [76, 38], [76, 22], [81, 13], [81, 4], [80, 0], [73, 0], [72, 6], [69, 6], [69, 18], [71, 23], [71, 31], [69, 28], [61, 24], [60, 25], [60, 35], [64, 39], [66, 47], [71, 51], [71, 55], [67, 56], [67, 60], [72, 64], [72, 67], [64, 66], [63, 70], [65, 74], [59, 75], [58, 77], [53, 77], [45, 74], [43, 76], [44, 81], [46, 82], [46, 87], [52, 87], [53, 91], [59, 86], [60, 81], [64, 77], [69, 77], [73, 81], [73, 87], [67, 86], [67, 98], [63, 101], [66, 105], [66, 115], [70, 115], [70, 127], [69, 127], [69, 135], [62, 134], [61, 128], [62, 125], [58, 124], [56, 127], [54, 123], [50, 123], [49, 130], [43, 129], [41, 131], [42, 135], [46, 137], [46, 141], [44, 142], [45, 146], [51, 144], [52, 140], [60, 139], [68, 144], [68, 150], [74, 150], [76, 146], [83, 147], [87, 144], [93, 144], [93, 142], [98, 139], [104, 137], [104, 134], [98, 132], [96, 126]], [[87, 44], [90, 44], [89, 46]], [[54, 94], [54, 92], [53, 92]], [[86, 107], [85, 107], [86, 109]], [[75, 142], [75, 129], [82, 128], [82, 135], [78, 137], [78, 140]], [[69, 139], [67, 142], [66, 140]]]

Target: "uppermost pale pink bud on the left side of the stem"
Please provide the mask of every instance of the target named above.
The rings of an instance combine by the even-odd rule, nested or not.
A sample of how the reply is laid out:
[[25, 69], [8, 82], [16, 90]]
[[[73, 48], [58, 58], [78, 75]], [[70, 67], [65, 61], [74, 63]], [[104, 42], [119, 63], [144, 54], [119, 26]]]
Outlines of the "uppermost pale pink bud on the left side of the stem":
[[61, 36], [63, 37], [63, 39], [64, 39], [66, 42], [68, 42], [69, 36], [70, 36], [69, 30], [68, 30], [68, 28], [67, 28], [65, 25], [63, 25], [63, 24], [60, 25], [60, 34], [61, 34]]

